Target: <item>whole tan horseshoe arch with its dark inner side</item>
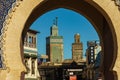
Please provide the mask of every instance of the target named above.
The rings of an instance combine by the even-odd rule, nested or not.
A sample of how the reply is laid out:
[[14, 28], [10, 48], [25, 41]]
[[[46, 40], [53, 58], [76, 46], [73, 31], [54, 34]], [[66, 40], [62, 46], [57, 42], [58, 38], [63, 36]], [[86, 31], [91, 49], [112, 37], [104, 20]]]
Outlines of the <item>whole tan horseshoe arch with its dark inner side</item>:
[[[115, 20], [120, 19], [120, 15], [118, 15], [119, 12], [114, 2], [108, 1], [110, 5], [114, 5], [116, 15], [118, 15], [114, 20], [112, 16], [113, 13], [109, 12], [111, 8], [110, 5], [106, 8], [105, 3], [107, 3], [107, 1], [105, 3], [103, 2], [101, 0], [36, 0], [34, 3], [32, 3], [32, 0], [16, 1], [15, 5], [9, 11], [2, 29], [3, 63], [6, 65], [6, 68], [5, 70], [1, 70], [0, 75], [4, 75], [1, 79], [20, 80], [20, 77], [22, 79], [23, 76], [21, 76], [21, 72], [25, 71], [25, 67], [22, 62], [21, 53], [23, 53], [23, 49], [21, 41], [27, 29], [42, 14], [61, 7], [74, 10], [84, 15], [93, 24], [99, 34], [103, 48], [103, 64], [101, 67], [103, 68], [105, 80], [119, 79], [115, 71], [118, 70], [117, 73], [120, 72], [120, 58], [117, 58], [116, 61], [116, 57], [120, 56], [117, 54], [120, 52], [118, 50], [118, 44], [120, 44], [120, 42], [118, 41], [119, 36], [116, 34], [118, 33], [117, 29], [120, 23], [115, 23]], [[15, 60], [14, 62], [11, 61], [11, 57]], [[19, 67], [15, 67], [16, 63], [19, 64]], [[113, 71], [113, 68], [115, 71]]]

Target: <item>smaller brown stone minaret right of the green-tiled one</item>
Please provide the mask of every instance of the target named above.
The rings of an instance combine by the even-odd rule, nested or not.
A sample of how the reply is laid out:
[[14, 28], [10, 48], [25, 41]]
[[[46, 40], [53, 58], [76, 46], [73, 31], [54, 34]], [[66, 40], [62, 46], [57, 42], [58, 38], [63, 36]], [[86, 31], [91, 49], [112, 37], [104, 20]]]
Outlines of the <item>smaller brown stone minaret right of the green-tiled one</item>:
[[83, 58], [83, 44], [80, 42], [80, 34], [74, 35], [74, 43], [72, 43], [72, 59], [80, 62]]

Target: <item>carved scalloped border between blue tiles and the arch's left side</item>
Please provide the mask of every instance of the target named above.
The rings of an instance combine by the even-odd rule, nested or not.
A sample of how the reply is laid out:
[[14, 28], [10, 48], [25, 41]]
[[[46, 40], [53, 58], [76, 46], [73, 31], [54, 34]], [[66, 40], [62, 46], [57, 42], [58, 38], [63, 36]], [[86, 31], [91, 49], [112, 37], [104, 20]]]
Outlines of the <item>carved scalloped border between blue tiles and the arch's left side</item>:
[[8, 29], [7, 25], [9, 25], [9, 23], [11, 22], [13, 13], [16, 11], [16, 8], [19, 7], [21, 0], [16, 0], [16, 2], [14, 2], [12, 4], [12, 7], [9, 9], [8, 14], [5, 17], [5, 21], [3, 23], [3, 27], [1, 29], [1, 35], [0, 35], [0, 41], [1, 41], [1, 57], [2, 57], [2, 63], [3, 63], [3, 67], [2, 69], [6, 69], [7, 68], [7, 61], [5, 60], [6, 58], [6, 54], [4, 53], [5, 51], [5, 38], [6, 38], [6, 31]]

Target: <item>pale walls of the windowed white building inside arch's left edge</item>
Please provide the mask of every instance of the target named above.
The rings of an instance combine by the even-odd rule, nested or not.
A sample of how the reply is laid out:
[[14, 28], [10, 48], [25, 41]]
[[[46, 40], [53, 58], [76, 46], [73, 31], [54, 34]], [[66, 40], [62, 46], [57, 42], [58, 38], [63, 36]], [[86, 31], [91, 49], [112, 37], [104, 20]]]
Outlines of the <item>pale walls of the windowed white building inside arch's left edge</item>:
[[[30, 38], [29, 37], [32, 37], [32, 41], [29, 40]], [[27, 36], [26, 36], [26, 44], [24, 45], [24, 54], [27, 55], [27, 57], [25, 57], [25, 60], [27, 59], [28, 61], [28, 73], [25, 74], [25, 79], [36, 79], [36, 80], [39, 80], [38, 77], [39, 77], [39, 73], [38, 73], [38, 65], [37, 65], [37, 47], [36, 47], [36, 42], [37, 42], [37, 39], [34, 40], [34, 38], [36, 38], [36, 34], [34, 33], [29, 33], [27, 32]], [[33, 57], [36, 56], [36, 57]], [[34, 61], [34, 67], [32, 68], [32, 62]], [[34, 69], [34, 73], [32, 73], [32, 69]]]

